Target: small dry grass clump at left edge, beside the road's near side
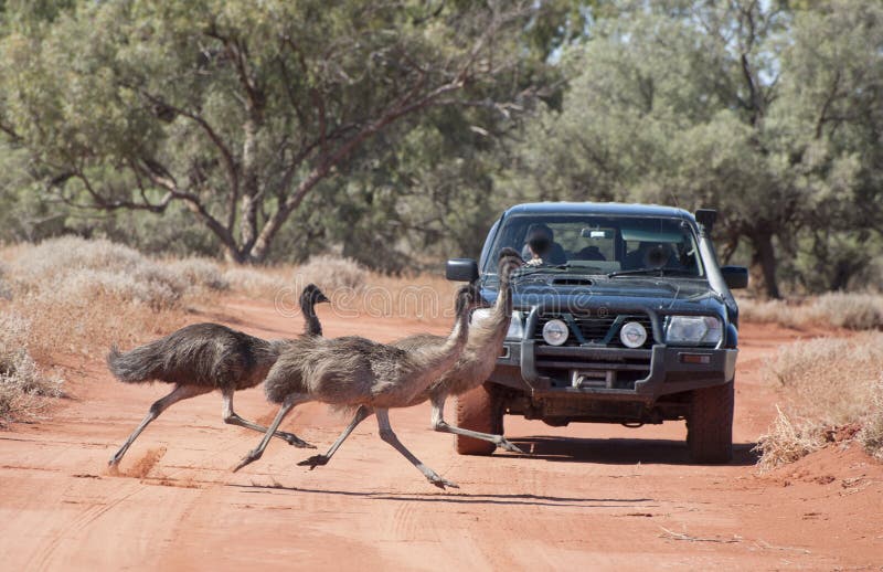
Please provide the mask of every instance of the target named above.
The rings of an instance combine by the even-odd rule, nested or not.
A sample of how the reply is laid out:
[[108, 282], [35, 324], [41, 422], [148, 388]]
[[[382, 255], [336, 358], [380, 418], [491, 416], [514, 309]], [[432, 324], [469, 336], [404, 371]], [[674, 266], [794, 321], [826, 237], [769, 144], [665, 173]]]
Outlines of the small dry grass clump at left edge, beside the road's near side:
[[0, 425], [34, 416], [45, 398], [62, 395], [62, 382], [46, 378], [28, 351], [30, 322], [15, 314], [0, 314]]

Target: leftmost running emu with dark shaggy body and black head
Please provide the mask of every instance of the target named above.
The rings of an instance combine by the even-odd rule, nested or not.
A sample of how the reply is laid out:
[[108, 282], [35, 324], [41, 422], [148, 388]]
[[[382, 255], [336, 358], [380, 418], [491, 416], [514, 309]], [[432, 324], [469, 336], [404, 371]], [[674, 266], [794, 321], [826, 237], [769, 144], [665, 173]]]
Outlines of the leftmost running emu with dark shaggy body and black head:
[[[322, 301], [329, 300], [313, 284], [307, 285], [300, 294], [300, 309], [306, 318], [305, 337], [322, 335], [315, 308]], [[145, 427], [170, 405], [214, 390], [220, 390], [224, 396], [224, 423], [265, 432], [267, 427], [236, 415], [233, 393], [264, 381], [284, 343], [283, 340], [248, 336], [220, 324], [193, 324], [126, 353], [120, 353], [116, 347], [110, 348], [107, 367], [119, 381], [164, 381], [173, 383], [174, 389], [150, 405], [147, 416], [108, 464], [117, 465]], [[316, 448], [291, 433], [279, 431], [273, 435], [296, 447]]]

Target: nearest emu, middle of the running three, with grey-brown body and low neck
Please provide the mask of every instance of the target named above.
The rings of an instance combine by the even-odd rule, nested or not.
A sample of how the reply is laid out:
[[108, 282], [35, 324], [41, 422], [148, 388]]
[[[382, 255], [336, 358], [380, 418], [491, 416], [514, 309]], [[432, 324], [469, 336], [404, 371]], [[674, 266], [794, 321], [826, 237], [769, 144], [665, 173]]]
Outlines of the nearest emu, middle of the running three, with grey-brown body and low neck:
[[[411, 405], [415, 398], [454, 367], [469, 337], [469, 315], [478, 300], [474, 286], [457, 293], [454, 329], [439, 343], [406, 350], [358, 336], [300, 338], [286, 342], [264, 383], [267, 399], [280, 403], [264, 439], [234, 470], [260, 458], [272, 432], [295, 405], [320, 401], [339, 407], [359, 407], [362, 415], [375, 413], [380, 437], [407, 458], [433, 485], [457, 487], [439, 477], [415, 457], [390, 426], [389, 410]], [[361, 420], [360, 420], [361, 421]]]

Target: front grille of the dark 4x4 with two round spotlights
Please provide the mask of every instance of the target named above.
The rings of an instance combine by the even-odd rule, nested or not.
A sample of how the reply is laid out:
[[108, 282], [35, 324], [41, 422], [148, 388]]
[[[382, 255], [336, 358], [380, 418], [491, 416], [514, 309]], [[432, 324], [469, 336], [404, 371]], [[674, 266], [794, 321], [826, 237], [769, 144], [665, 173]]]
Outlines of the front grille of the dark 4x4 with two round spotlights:
[[[560, 319], [567, 325], [570, 336], [564, 347], [603, 346], [606, 348], [625, 348], [619, 340], [619, 329], [628, 321], [640, 322], [647, 330], [647, 341], [641, 348], [653, 346], [653, 325], [646, 314], [620, 314], [618, 316], [591, 316], [579, 314], [542, 314], [536, 321], [533, 339], [545, 345], [543, 326], [550, 320]], [[578, 332], [578, 336], [577, 336]], [[582, 340], [579, 339], [582, 337]]]

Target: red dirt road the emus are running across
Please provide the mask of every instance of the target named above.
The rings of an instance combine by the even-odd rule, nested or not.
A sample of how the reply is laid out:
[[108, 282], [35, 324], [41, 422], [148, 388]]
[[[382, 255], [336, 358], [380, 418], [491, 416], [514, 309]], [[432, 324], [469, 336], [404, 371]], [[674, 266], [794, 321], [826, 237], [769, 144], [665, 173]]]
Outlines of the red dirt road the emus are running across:
[[[300, 329], [246, 300], [222, 315], [266, 337]], [[446, 328], [342, 320], [327, 307], [320, 317], [327, 336]], [[217, 317], [194, 316], [204, 319]], [[883, 466], [853, 448], [767, 476], [754, 467], [776, 401], [758, 366], [798, 335], [743, 327], [726, 466], [690, 465], [682, 423], [554, 428], [507, 417], [507, 435], [533, 455], [461, 457], [453, 437], [427, 428], [427, 405], [392, 412], [402, 442], [460, 485], [447, 491], [381, 442], [373, 419], [326, 467], [298, 467], [315, 452], [274, 439], [233, 474], [259, 435], [224, 425], [217, 394], [167, 411], [113, 475], [107, 459], [167, 386], [123, 385], [85, 361], [50, 421], [0, 433], [0, 570], [879, 570]], [[259, 389], [237, 394], [236, 409], [264, 422], [275, 412]], [[308, 404], [284, 428], [321, 451], [344, 424]]]

